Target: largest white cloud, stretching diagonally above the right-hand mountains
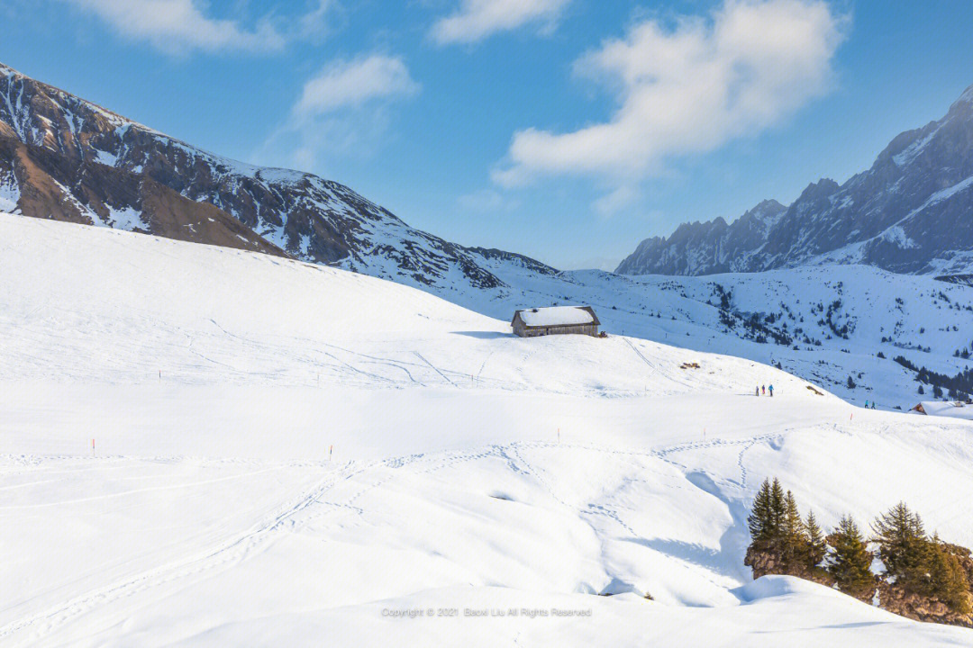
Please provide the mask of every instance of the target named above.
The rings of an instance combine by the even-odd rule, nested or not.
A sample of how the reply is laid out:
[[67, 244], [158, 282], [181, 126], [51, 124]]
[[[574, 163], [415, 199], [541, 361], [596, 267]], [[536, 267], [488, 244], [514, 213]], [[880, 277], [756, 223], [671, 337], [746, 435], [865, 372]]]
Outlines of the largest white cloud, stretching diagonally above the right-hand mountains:
[[825, 93], [846, 22], [823, 0], [726, 0], [710, 17], [681, 17], [671, 28], [641, 21], [574, 64], [614, 94], [611, 119], [515, 133], [493, 180], [595, 177], [616, 187], [595, 208], [617, 210], [667, 158], [756, 134]]

